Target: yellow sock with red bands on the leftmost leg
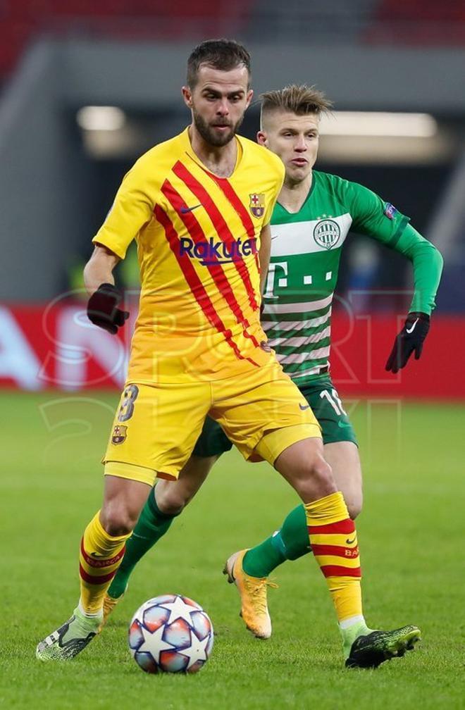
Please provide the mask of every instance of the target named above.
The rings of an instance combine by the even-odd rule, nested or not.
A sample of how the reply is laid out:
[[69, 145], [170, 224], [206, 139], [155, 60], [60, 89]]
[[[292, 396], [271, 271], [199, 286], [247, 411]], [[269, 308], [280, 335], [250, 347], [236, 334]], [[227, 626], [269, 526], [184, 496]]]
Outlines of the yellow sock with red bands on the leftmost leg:
[[81, 540], [79, 574], [81, 581], [80, 603], [84, 613], [102, 611], [106, 590], [116, 574], [124, 556], [124, 543], [131, 535], [111, 537], [102, 528], [100, 511], [94, 515]]

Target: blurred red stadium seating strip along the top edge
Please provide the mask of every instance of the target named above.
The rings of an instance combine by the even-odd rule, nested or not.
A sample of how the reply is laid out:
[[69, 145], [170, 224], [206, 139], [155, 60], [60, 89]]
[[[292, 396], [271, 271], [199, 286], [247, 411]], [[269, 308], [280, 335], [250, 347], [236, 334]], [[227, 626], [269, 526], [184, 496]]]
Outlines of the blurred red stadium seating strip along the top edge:
[[0, 80], [40, 34], [180, 40], [248, 39], [356, 43], [465, 44], [465, 3], [437, 0], [4, 0]]

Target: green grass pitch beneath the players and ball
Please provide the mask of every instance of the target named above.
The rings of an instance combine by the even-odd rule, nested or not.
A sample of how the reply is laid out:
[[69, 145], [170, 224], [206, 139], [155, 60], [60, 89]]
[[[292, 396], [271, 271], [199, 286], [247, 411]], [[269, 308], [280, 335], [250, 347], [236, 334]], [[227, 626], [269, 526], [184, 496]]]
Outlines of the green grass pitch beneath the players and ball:
[[[373, 626], [416, 623], [415, 652], [344, 670], [339, 633], [310, 555], [276, 570], [273, 638], [246, 632], [224, 559], [280, 525], [297, 498], [266, 464], [226, 454], [133, 574], [104, 633], [76, 660], [45, 665], [35, 645], [77, 601], [77, 547], [102, 493], [99, 459], [116, 395], [0, 394], [0, 707], [5, 709], [459, 709], [464, 683], [464, 408], [346, 403], [359, 435], [358, 530]], [[201, 603], [216, 632], [197, 675], [149, 676], [128, 654], [133, 611], [157, 594]]]

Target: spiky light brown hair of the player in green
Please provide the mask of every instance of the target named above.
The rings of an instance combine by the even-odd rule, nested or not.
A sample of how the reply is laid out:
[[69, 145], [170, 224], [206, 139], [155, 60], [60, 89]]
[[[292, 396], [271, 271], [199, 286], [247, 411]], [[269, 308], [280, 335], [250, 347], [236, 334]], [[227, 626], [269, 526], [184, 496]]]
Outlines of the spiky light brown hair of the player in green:
[[261, 118], [270, 111], [289, 111], [297, 116], [305, 114], [326, 113], [331, 109], [332, 102], [316, 87], [306, 84], [291, 84], [284, 89], [267, 91], [261, 94]]

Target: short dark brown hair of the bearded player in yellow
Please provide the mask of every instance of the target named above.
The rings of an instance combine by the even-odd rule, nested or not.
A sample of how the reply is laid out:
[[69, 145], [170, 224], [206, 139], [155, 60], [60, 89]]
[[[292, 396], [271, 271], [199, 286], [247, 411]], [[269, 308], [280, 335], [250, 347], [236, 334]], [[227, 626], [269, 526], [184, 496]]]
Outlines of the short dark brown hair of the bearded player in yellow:
[[205, 40], [192, 50], [187, 60], [187, 86], [190, 89], [197, 84], [197, 73], [202, 64], [222, 72], [229, 72], [242, 64], [248, 71], [250, 82], [251, 55], [235, 40]]

